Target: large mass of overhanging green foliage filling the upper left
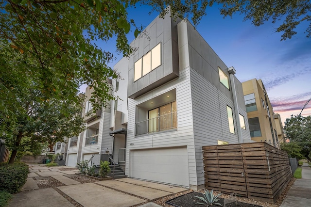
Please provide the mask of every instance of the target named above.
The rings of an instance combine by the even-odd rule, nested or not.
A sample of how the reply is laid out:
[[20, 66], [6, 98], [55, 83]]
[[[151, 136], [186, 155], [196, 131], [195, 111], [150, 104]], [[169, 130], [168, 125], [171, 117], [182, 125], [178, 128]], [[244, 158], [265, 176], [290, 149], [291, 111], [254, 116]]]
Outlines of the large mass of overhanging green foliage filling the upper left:
[[[29, 88], [31, 77], [40, 98], [74, 100], [82, 84], [95, 89], [94, 111], [115, 99], [105, 81], [119, 75], [107, 64], [113, 54], [96, 45], [97, 39], [117, 36], [116, 46], [129, 55], [126, 33], [135, 26], [126, 8], [136, 0], [1, 0], [0, 110], [16, 103], [16, 86]], [[131, 22], [131, 24], [130, 24]], [[135, 35], [139, 33], [136, 28]], [[13, 71], [11, 71], [13, 70]], [[26, 81], [28, 83], [28, 81]], [[6, 98], [10, 94], [10, 98]]]

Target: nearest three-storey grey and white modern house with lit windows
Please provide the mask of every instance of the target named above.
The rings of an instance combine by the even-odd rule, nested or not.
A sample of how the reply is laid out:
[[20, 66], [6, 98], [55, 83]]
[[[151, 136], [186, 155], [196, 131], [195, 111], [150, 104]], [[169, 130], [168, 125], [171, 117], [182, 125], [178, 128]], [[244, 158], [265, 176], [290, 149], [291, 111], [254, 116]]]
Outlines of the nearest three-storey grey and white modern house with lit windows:
[[128, 68], [128, 177], [204, 188], [202, 146], [252, 142], [241, 82], [187, 21], [157, 17]]

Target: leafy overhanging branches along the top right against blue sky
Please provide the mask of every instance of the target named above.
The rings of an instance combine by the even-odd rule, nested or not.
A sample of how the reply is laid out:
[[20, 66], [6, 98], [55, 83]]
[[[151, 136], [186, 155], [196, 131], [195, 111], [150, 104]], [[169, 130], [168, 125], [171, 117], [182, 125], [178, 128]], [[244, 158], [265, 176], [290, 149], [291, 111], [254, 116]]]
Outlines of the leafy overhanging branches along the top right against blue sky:
[[[162, 15], [168, 12], [167, 6], [174, 17], [191, 16], [197, 25], [202, 16], [208, 15], [207, 7], [220, 6], [221, 15], [232, 17], [235, 13], [244, 16], [244, 20], [251, 20], [255, 26], [271, 20], [276, 26], [276, 32], [283, 32], [281, 40], [292, 38], [297, 32], [295, 28], [302, 22], [311, 22], [310, 0], [141, 0], [143, 4], [151, 5]], [[311, 37], [311, 24], [306, 28], [306, 36]]]

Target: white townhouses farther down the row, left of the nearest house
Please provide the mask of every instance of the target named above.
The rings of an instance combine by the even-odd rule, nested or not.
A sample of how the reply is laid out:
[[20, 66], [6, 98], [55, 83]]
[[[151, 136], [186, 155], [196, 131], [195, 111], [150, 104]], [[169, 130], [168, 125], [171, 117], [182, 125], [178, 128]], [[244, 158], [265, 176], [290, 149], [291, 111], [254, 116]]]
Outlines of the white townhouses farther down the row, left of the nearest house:
[[[125, 60], [126, 61], [126, 60]], [[120, 62], [122, 63], [122, 62]], [[96, 113], [86, 115], [92, 110], [89, 102], [93, 89], [86, 87], [84, 109], [82, 117], [86, 121], [86, 130], [78, 137], [72, 137], [68, 141], [66, 165], [75, 167], [82, 160], [89, 160], [93, 154], [105, 154], [106, 152], [118, 163], [119, 149], [120, 153], [125, 152], [126, 125], [127, 125], [127, 69], [114, 69], [120, 73], [122, 79], [108, 80], [113, 91], [109, 93], [118, 96], [120, 99], [111, 101], [111, 107], [98, 110]], [[120, 129], [120, 130], [119, 130]], [[123, 156], [124, 157], [124, 156]], [[120, 156], [121, 158], [121, 156]], [[121, 160], [123, 161], [124, 158]], [[123, 161], [121, 164], [125, 164]]]

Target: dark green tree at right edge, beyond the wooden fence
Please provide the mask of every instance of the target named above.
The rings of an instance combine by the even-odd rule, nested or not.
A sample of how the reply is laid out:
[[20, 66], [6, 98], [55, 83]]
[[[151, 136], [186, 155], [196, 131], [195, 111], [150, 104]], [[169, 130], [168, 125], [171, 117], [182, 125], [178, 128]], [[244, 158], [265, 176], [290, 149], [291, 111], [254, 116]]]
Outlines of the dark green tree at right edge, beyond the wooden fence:
[[300, 153], [311, 161], [311, 116], [292, 115], [291, 118], [287, 118], [284, 133], [291, 142], [302, 148]]

